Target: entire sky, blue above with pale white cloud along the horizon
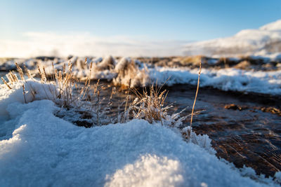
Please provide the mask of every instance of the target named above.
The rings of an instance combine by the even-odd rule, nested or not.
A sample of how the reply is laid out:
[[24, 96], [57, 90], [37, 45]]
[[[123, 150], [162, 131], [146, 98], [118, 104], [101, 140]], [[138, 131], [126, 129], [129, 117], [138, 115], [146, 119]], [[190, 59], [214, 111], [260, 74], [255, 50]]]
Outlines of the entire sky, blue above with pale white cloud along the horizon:
[[0, 0], [0, 8], [0, 57], [181, 55], [190, 41], [281, 19], [280, 0]]

